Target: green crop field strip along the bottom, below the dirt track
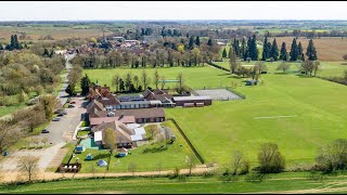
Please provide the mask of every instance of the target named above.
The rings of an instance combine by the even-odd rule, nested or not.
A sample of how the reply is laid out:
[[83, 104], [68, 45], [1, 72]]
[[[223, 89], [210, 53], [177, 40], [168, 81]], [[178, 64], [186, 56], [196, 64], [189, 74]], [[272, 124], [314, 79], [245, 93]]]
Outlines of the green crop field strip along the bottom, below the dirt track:
[[245, 177], [224, 182], [217, 177], [74, 179], [16, 186], [1, 186], [1, 193], [87, 193], [87, 194], [197, 194], [197, 193], [346, 193], [346, 176], [311, 179], [309, 173], [270, 174], [262, 182]]

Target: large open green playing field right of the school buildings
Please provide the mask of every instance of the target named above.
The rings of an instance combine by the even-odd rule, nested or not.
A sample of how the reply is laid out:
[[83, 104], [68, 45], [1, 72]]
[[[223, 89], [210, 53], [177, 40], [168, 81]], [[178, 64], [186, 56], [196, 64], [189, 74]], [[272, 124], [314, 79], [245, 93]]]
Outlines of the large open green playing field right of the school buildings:
[[261, 79], [264, 84], [236, 88], [246, 100], [166, 109], [166, 115], [176, 119], [208, 162], [220, 165], [229, 164], [233, 151], [240, 150], [256, 166], [264, 142], [278, 143], [287, 167], [310, 164], [322, 144], [347, 136], [347, 105], [336, 104], [344, 102], [346, 86], [294, 74]]

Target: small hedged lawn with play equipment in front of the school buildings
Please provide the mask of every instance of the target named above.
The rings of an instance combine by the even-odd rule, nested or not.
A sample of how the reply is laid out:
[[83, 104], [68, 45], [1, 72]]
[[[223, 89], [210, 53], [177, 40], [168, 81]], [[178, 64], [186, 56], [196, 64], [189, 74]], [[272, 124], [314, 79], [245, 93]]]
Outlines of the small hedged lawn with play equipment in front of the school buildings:
[[[108, 172], [128, 172], [129, 164], [134, 164], [136, 171], [157, 170], [158, 164], [160, 164], [162, 170], [171, 170], [176, 167], [184, 168], [187, 156], [192, 156], [193, 154], [191, 148], [171, 121], [163, 122], [163, 126], [169, 127], [174, 131], [176, 135], [174, 144], [168, 144], [167, 150], [165, 151], [154, 150], [154, 152], [143, 153], [145, 148], [159, 148], [160, 145], [163, 145], [163, 143], [155, 143], [153, 145], [143, 145], [130, 150], [131, 155], [126, 157], [117, 158], [112, 156]], [[87, 161], [85, 159], [86, 155], [89, 153], [92, 154], [94, 159]], [[76, 157], [78, 157], [79, 161], [82, 164], [80, 172], [92, 172], [92, 168], [95, 169], [95, 172], [104, 172], [106, 168], [97, 166], [97, 161], [99, 159], [108, 161], [108, 154], [110, 153], [106, 150], [99, 151], [93, 148], [87, 148], [82, 154], [77, 154]], [[67, 156], [70, 156], [70, 153], [68, 153]], [[68, 158], [66, 157], [65, 159]], [[75, 160], [76, 159], [73, 158], [72, 162], [75, 162]], [[198, 164], [197, 158], [195, 157], [194, 161]]]

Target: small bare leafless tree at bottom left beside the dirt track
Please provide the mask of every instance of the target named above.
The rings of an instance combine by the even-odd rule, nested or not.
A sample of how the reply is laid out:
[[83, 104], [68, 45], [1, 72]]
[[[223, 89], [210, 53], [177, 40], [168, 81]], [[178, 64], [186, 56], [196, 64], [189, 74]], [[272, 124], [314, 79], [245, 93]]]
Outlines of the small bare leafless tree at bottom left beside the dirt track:
[[28, 181], [31, 182], [39, 171], [39, 158], [35, 156], [20, 157], [17, 166], [23, 176], [27, 177]]

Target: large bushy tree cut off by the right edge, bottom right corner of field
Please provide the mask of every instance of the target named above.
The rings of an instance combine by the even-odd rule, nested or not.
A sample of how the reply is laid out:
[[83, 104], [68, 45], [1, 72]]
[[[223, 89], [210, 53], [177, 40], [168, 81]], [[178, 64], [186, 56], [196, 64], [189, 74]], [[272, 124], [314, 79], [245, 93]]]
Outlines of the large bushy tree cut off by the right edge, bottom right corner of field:
[[320, 148], [317, 162], [325, 171], [347, 169], [347, 140], [337, 139]]

